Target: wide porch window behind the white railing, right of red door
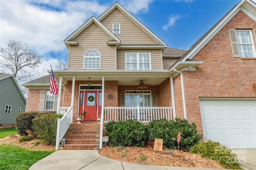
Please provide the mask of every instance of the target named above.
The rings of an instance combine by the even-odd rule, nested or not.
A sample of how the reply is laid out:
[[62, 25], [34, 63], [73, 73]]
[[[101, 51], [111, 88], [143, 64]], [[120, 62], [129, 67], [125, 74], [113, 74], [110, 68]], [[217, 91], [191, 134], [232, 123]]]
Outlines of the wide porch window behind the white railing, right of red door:
[[125, 106], [126, 107], [151, 107], [151, 91], [150, 90], [126, 90], [125, 91]]

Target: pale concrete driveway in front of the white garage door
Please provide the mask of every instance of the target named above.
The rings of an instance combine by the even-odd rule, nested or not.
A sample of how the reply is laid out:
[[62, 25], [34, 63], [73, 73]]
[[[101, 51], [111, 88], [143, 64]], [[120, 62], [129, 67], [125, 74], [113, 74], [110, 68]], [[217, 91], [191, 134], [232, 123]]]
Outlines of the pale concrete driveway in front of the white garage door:
[[232, 149], [237, 155], [241, 168], [256, 170], [256, 149]]

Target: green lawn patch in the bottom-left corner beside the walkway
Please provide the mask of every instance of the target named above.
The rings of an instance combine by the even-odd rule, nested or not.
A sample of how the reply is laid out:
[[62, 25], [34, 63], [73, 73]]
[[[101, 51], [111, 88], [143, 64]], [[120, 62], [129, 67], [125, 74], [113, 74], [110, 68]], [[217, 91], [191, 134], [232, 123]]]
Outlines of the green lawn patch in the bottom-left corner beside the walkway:
[[28, 150], [10, 144], [0, 145], [1, 170], [28, 170], [32, 164], [54, 151]]

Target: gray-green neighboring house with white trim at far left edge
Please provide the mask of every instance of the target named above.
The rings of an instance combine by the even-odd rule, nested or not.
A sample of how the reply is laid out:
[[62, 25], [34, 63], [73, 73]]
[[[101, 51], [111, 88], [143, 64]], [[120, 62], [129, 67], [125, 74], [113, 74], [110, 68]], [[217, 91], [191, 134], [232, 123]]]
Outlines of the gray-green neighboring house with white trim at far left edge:
[[0, 127], [13, 127], [15, 117], [26, 110], [26, 98], [12, 74], [0, 74]]

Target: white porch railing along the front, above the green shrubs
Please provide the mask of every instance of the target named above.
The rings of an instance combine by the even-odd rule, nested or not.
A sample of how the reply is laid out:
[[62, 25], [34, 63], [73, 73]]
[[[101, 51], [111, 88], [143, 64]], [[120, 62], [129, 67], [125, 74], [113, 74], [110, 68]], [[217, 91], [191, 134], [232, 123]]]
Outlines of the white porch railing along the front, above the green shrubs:
[[104, 107], [104, 123], [133, 119], [148, 123], [155, 119], [173, 119], [173, 107]]

